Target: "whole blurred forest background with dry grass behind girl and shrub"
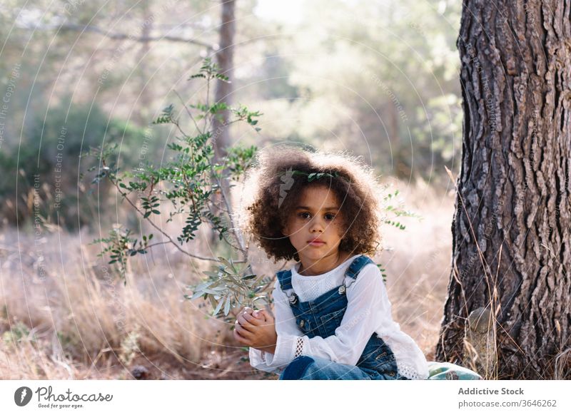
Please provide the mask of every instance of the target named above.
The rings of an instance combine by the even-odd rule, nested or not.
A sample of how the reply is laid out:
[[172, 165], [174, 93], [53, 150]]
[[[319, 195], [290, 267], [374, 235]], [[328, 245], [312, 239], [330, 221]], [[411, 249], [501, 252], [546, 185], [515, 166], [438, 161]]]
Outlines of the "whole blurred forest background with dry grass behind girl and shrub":
[[[231, 142], [348, 149], [400, 190], [423, 220], [388, 229], [378, 260], [393, 317], [428, 359], [450, 268], [444, 166], [458, 171], [461, 150], [460, 11], [453, 0], [236, 1], [231, 101], [263, 116], [258, 135], [236, 125]], [[272, 376], [249, 367], [228, 324], [183, 300], [208, 264], [159, 248], [123, 285], [90, 245], [113, 223], [139, 223], [111, 186], [91, 185], [82, 153], [118, 143], [123, 171], [161, 165], [176, 132], [151, 121], [176, 93], [204, 96], [187, 79], [216, 53], [220, 22], [219, 1], [3, 1], [1, 379]], [[193, 250], [216, 250], [204, 232]]]

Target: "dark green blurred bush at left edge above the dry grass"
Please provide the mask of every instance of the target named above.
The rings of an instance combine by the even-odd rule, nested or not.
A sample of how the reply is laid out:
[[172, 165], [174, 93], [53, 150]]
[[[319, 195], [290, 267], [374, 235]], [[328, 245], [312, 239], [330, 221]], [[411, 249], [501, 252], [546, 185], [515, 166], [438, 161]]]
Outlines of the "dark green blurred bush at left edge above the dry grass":
[[121, 143], [123, 169], [136, 165], [138, 153], [133, 149], [143, 141], [141, 128], [108, 118], [98, 106], [72, 103], [71, 97], [37, 112], [19, 148], [0, 152], [4, 225], [23, 225], [32, 217], [68, 229], [106, 222], [112, 205], [105, 200], [111, 187], [101, 183], [98, 194], [91, 194], [81, 180], [89, 166], [80, 158], [82, 151], [106, 140]]

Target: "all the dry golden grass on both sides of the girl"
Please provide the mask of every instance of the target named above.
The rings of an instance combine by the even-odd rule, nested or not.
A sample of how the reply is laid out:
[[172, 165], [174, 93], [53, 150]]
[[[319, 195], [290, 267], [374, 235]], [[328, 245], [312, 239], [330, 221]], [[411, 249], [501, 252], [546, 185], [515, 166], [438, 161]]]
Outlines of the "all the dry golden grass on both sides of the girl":
[[[453, 198], [397, 185], [424, 216], [386, 227], [377, 259], [388, 273], [393, 317], [428, 359], [438, 339], [450, 264]], [[163, 245], [133, 257], [127, 285], [101, 258], [95, 237], [6, 230], [0, 235], [0, 379], [275, 379], [244, 361], [228, 324], [183, 299], [208, 263]], [[203, 238], [206, 240], [206, 238]], [[206, 242], [203, 242], [203, 244]], [[208, 246], [193, 247], [208, 253]], [[202, 267], [202, 268], [200, 268]], [[275, 265], [256, 261], [258, 272]], [[133, 369], [134, 372], [133, 372]]]

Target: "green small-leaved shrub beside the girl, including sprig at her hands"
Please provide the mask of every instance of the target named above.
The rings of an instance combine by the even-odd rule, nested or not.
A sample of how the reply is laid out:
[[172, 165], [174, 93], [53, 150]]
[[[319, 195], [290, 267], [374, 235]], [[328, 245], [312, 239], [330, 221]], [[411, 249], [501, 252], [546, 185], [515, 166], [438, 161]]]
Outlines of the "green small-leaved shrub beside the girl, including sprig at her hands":
[[[208, 96], [210, 84], [213, 81], [230, 82], [228, 77], [218, 71], [216, 63], [211, 58], [206, 58], [198, 73], [188, 78], [206, 81], [206, 101], [186, 104], [181, 99], [181, 111], [177, 112], [176, 106], [170, 104], [153, 121], [156, 125], [173, 125], [178, 132], [173, 141], [167, 144], [170, 158], [161, 167], [146, 163], [139, 165], [136, 170], [121, 172], [119, 166], [112, 161], [119, 159], [116, 157], [116, 143], [91, 148], [89, 155], [98, 160], [98, 165], [91, 168], [97, 170], [93, 183], [110, 180], [121, 198], [156, 230], [153, 231], [156, 235], [153, 240], [153, 234], [138, 238], [132, 230], [118, 225], [109, 232], [108, 237], [92, 243], [103, 245], [100, 256], [108, 255], [109, 263], [116, 265], [123, 278], [129, 258], [146, 254], [155, 245], [171, 244], [188, 257], [214, 262], [216, 270], [206, 272], [209, 279], [196, 287], [188, 286], [193, 294], [185, 297], [206, 299], [208, 304], [212, 304], [214, 316], [231, 321], [228, 314], [234, 307], [259, 307], [267, 304], [267, 294], [273, 278], [253, 274], [251, 265], [246, 260], [248, 247], [244, 245], [243, 237], [233, 223], [228, 195], [224, 191], [225, 188], [233, 187], [230, 180], [240, 180], [249, 168], [256, 155], [256, 146], [235, 145], [226, 148], [226, 154], [218, 160], [213, 142], [216, 136], [213, 121], [216, 119], [223, 122], [223, 112], [231, 113], [228, 122], [223, 123], [223, 128], [243, 122], [251, 125], [256, 133], [260, 130], [256, 118], [261, 113], [249, 111], [242, 105], [233, 108], [223, 102], [211, 103]], [[187, 132], [181, 116], [188, 116], [192, 132]], [[223, 202], [222, 208], [220, 200]], [[166, 207], [166, 204], [169, 206]], [[178, 235], [169, 235], [157, 222], [163, 216], [166, 217], [166, 222], [171, 222], [178, 215], [184, 217]], [[204, 257], [186, 249], [185, 245], [196, 239], [203, 223], [216, 232], [218, 240], [232, 248], [237, 254], [236, 258], [233, 255], [228, 259]], [[124, 281], [126, 283], [126, 279]]]

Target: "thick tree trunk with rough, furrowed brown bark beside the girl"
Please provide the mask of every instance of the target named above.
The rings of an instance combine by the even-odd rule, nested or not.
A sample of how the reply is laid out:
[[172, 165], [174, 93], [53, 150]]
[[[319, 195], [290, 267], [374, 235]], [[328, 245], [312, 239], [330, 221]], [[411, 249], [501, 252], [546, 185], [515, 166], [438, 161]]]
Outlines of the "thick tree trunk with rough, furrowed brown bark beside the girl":
[[571, 379], [570, 14], [570, 0], [463, 3], [463, 154], [436, 359], [471, 366], [468, 318], [483, 307], [497, 361], [475, 367], [488, 378]]

